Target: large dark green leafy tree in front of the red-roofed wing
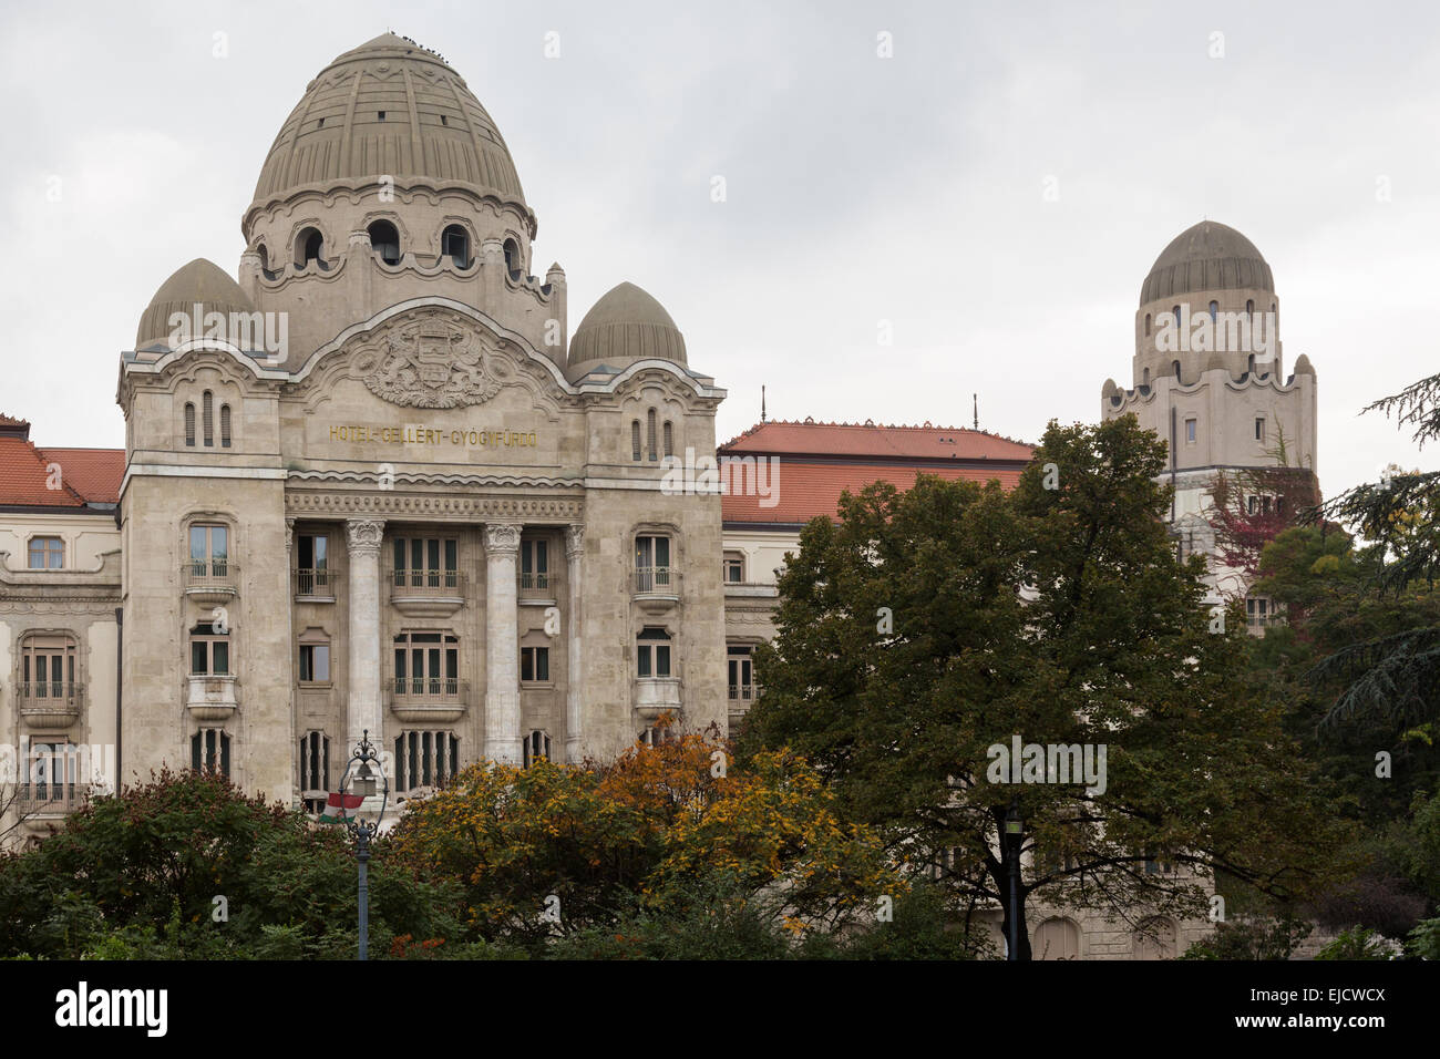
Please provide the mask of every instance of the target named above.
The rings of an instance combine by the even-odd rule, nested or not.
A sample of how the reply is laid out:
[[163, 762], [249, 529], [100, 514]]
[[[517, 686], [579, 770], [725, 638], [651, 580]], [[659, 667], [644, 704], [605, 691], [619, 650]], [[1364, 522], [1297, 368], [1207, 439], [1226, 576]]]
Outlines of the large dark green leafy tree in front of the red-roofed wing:
[[[922, 474], [842, 497], [780, 578], [742, 752], [799, 752], [897, 856], [952, 850], [956, 892], [1007, 931], [1011, 804], [1035, 854], [1022, 901], [1194, 913], [1215, 870], [1315, 886], [1338, 837], [1284, 703], [1241, 664], [1238, 612], [1212, 633], [1202, 560], [1175, 558], [1164, 463], [1133, 416], [1051, 424], [1011, 494]], [[994, 782], [1014, 736], [1104, 746], [1103, 790]]]

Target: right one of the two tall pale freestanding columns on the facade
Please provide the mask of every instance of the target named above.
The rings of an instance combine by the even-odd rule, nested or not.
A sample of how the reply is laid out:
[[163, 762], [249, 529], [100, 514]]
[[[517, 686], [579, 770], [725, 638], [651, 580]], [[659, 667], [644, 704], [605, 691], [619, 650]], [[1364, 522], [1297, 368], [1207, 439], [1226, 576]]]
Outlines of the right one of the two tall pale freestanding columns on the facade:
[[485, 526], [485, 756], [518, 765], [520, 620], [516, 558], [520, 527]]

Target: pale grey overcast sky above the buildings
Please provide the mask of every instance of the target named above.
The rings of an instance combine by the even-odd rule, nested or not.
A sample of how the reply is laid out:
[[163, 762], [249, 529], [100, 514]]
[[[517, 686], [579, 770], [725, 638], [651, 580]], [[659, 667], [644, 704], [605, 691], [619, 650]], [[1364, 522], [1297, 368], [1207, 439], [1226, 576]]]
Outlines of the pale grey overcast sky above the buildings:
[[235, 274], [281, 122], [393, 29], [500, 125], [570, 326], [647, 288], [730, 392], [721, 439], [762, 383], [772, 418], [968, 426], [979, 393], [1025, 441], [1094, 421], [1145, 274], [1210, 218], [1274, 271], [1286, 372], [1315, 363], [1326, 494], [1433, 468], [1356, 414], [1440, 360], [1440, 9], [1176, 7], [7, 1], [0, 411], [124, 445], [141, 310], [192, 258]]

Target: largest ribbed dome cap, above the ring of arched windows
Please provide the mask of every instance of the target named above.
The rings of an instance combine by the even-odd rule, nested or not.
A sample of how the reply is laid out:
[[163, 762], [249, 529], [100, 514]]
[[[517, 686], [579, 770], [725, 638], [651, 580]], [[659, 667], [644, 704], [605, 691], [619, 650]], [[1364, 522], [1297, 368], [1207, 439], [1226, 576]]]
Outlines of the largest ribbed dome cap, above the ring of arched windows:
[[382, 174], [402, 189], [461, 184], [524, 207], [510, 148], [465, 81], [395, 33], [346, 52], [310, 82], [265, 158], [255, 206]]

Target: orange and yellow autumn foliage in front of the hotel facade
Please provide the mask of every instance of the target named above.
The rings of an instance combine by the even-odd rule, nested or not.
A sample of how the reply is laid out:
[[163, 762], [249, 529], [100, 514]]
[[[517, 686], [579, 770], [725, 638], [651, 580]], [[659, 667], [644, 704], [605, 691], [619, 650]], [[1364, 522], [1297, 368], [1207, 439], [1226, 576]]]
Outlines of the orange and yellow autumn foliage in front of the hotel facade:
[[804, 934], [873, 918], [904, 889], [802, 759], [782, 749], [739, 769], [714, 732], [603, 765], [475, 765], [413, 805], [393, 846], [461, 883], [481, 937], [520, 942], [690, 915], [717, 893]]

